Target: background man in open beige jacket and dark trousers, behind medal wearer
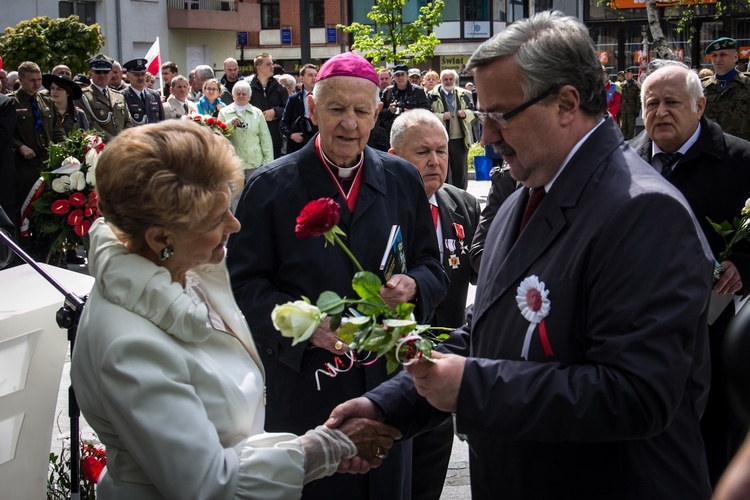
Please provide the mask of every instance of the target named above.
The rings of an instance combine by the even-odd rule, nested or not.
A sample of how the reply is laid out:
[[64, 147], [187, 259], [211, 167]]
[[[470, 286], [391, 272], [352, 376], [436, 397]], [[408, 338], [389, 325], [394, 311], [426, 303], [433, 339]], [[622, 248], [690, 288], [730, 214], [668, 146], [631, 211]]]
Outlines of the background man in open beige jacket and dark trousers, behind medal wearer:
[[456, 83], [458, 73], [452, 69], [440, 72], [440, 83], [430, 91], [432, 112], [443, 121], [448, 131], [448, 178], [446, 182], [460, 189], [468, 184], [466, 156], [471, 147], [471, 123], [474, 101], [471, 92]]

